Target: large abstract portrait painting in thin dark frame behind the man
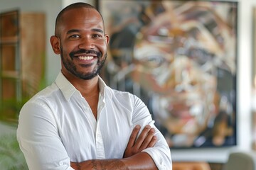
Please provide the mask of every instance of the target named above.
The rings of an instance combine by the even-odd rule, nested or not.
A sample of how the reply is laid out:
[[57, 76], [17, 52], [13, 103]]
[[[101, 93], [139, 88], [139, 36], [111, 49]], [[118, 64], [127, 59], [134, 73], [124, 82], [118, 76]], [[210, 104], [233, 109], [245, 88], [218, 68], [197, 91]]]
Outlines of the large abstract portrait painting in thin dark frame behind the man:
[[238, 2], [98, 0], [101, 73], [148, 106], [169, 147], [236, 145]]

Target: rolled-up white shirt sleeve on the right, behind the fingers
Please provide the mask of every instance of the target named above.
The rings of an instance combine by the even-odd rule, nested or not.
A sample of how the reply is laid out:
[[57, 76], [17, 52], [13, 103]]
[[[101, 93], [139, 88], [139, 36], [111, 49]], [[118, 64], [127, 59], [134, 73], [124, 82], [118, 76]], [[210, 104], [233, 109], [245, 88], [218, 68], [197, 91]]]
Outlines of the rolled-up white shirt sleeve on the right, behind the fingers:
[[151, 125], [152, 128], [155, 129], [155, 135], [157, 137], [156, 145], [154, 145], [154, 147], [146, 148], [142, 152], [146, 152], [151, 156], [158, 169], [171, 170], [172, 162], [170, 148], [164, 136], [154, 125], [154, 120], [152, 120], [151, 118], [149, 109], [146, 107], [146, 105], [142, 102], [141, 99], [137, 98], [137, 96], [134, 96], [134, 112], [132, 123], [134, 125], [141, 125], [141, 127], [144, 127], [145, 125], [149, 124]]

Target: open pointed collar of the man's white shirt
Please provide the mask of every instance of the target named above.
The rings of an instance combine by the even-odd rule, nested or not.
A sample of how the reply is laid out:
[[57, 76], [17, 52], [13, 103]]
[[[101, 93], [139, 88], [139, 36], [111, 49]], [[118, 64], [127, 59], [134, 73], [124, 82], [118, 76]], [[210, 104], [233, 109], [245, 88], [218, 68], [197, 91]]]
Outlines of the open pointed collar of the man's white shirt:
[[[63, 96], [67, 101], [69, 101], [71, 96], [73, 96], [73, 94], [75, 94], [75, 92], [78, 91], [77, 89], [75, 89], [75, 86], [73, 86], [73, 84], [71, 84], [70, 81], [68, 81], [68, 79], [65, 78], [62, 72], [58, 74], [58, 77], [55, 80], [55, 84], [63, 93]], [[101, 77], [99, 77], [99, 87], [100, 87], [100, 96], [104, 97], [105, 87], [107, 87], [107, 85], [105, 84], [105, 82], [102, 80]], [[78, 91], [78, 93], [80, 94], [80, 91]]]

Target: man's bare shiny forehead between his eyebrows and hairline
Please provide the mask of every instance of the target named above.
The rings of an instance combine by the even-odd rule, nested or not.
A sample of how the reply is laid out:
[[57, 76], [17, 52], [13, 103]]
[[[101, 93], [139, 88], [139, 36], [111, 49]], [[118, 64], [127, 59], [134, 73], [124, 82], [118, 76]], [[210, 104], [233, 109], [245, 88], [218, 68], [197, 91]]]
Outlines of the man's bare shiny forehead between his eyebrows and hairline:
[[100, 28], [103, 30], [103, 21], [100, 13], [94, 8], [73, 8], [63, 13], [58, 28], [61, 32], [69, 29]]

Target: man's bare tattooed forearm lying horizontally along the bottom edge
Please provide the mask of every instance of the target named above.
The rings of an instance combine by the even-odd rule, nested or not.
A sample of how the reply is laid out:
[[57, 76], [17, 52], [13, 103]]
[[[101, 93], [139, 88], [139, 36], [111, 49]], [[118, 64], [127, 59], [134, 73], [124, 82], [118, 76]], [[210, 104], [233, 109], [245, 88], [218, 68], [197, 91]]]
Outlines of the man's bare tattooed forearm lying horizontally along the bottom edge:
[[94, 159], [85, 162], [71, 162], [71, 166], [75, 170], [136, 170], [136, 169], [157, 169], [153, 159], [146, 152], [134, 154], [132, 157], [124, 159]]

